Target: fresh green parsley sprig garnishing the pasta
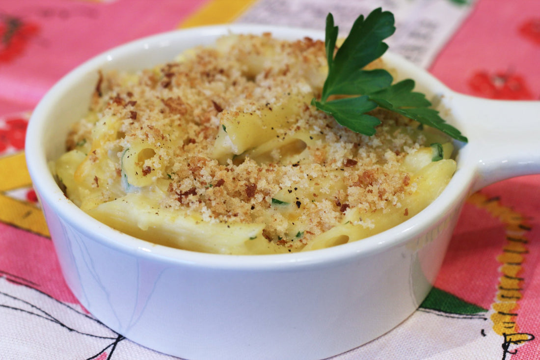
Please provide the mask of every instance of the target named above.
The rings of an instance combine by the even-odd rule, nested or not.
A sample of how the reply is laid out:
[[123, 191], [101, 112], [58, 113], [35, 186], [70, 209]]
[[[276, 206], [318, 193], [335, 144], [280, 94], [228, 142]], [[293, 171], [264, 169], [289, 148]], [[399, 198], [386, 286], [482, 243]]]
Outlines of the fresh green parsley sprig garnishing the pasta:
[[[383, 40], [394, 31], [392, 12], [379, 8], [366, 18], [360, 15], [334, 56], [338, 26], [334, 25], [332, 14], [328, 14], [325, 34], [328, 76], [321, 99], [313, 98], [312, 105], [332, 115], [339, 124], [364, 135], [375, 134], [375, 126], [381, 121], [366, 113], [380, 106], [467, 142], [459, 130], [447, 124], [437, 110], [430, 108], [431, 103], [424, 94], [413, 91], [413, 80], [393, 84], [394, 79], [388, 71], [363, 69], [386, 52], [388, 45]], [[346, 97], [328, 100], [332, 95]]]

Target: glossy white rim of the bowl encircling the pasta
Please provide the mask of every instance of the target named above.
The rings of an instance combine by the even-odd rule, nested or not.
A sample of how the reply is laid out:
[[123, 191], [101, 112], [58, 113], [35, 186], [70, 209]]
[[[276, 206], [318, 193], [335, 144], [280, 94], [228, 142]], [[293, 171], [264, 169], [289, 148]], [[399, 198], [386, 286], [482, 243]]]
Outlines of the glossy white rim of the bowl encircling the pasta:
[[[470, 166], [470, 161], [466, 160], [469, 149], [465, 145], [460, 150], [458, 169], [446, 188], [427, 208], [407, 221], [360, 241], [320, 250], [272, 255], [209, 254], [154, 244], [124, 234], [108, 225], [100, 223], [72, 203], [64, 195], [62, 190], [60, 190], [51, 175], [48, 166], [49, 160], [45, 157], [46, 144], [42, 136], [44, 134], [43, 130], [46, 128], [45, 125], [52, 123], [51, 119], [48, 122], [46, 121], [48, 114], [55, 106], [56, 101], [61, 98], [62, 94], [69, 91], [70, 86], [73, 86], [78, 79], [88, 74], [89, 71], [97, 71], [105, 62], [113, 62], [114, 59], [121, 55], [167, 48], [174, 41], [181, 41], [181, 39], [188, 37], [199, 37], [201, 39], [204, 37], [214, 38], [227, 34], [227, 32], [252, 34], [272, 32], [274, 35], [279, 34], [278, 37], [285, 35], [288, 38], [301, 38], [305, 36], [323, 38], [324, 36], [323, 32], [319, 30], [286, 26], [252, 24], [211, 25], [173, 30], [140, 38], [92, 57], [71, 70], [53, 85], [39, 101], [31, 115], [26, 132], [25, 156], [33, 186], [42, 204], [45, 203], [63, 222], [68, 223], [72, 228], [92, 239], [92, 241], [128, 254], [156, 259], [162, 262], [165, 261], [171, 264], [183, 263], [205, 268], [286, 270], [297, 268], [298, 266], [330, 265], [336, 262], [351, 261], [357, 257], [367, 257], [395, 246], [401, 246], [409, 239], [427, 231], [431, 225], [441, 221], [453, 209], [456, 202], [462, 201], [468, 195], [470, 184], [475, 176], [475, 169], [473, 166]], [[446, 86], [431, 76], [426, 70], [409, 63], [401, 56], [387, 52], [383, 58], [388, 60], [390, 64], [399, 63], [407, 71], [418, 73], [421, 77], [421, 81], [419, 82], [426, 83], [429, 89], [435, 89], [435, 92], [442, 93], [445, 96], [451, 96], [453, 94], [453, 91], [446, 88]], [[415, 78], [415, 80], [417, 79]]]

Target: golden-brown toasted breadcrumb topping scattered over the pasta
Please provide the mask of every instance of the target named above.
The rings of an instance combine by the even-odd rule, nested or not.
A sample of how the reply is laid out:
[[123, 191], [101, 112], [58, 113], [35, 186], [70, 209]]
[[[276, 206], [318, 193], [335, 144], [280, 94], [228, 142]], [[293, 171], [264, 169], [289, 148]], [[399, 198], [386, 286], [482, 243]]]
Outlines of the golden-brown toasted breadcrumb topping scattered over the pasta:
[[[143, 142], [150, 150], [138, 174], [163, 190], [163, 209], [185, 209], [211, 223], [264, 223], [269, 241], [298, 248], [351, 209], [399, 208], [415, 191], [403, 158], [426, 146], [415, 124], [383, 109], [370, 113], [382, 121], [372, 137], [316, 110], [309, 101], [320, 97], [326, 70], [322, 41], [225, 37], [154, 69], [100, 74], [91, 115], [77, 123], [66, 145], [91, 142], [95, 123], [119, 119], [99, 144], [106, 151], [96, 155], [113, 159], [111, 178], [122, 176], [126, 149]], [[263, 121], [272, 139], [215, 155], [218, 137], [232, 142], [226, 119], [248, 114], [264, 120], [286, 106], [293, 110], [280, 126]], [[264, 144], [271, 146], [262, 151]], [[107, 192], [106, 179], [94, 181], [104, 202], [117, 196]]]

